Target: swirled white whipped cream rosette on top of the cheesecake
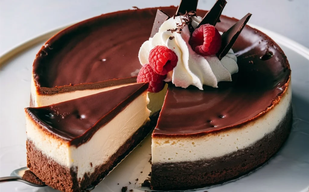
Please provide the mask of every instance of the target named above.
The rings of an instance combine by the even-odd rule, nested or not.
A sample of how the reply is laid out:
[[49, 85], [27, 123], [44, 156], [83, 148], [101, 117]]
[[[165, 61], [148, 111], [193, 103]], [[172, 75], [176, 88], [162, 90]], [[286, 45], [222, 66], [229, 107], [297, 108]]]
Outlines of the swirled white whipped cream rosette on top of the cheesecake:
[[[150, 50], [157, 45], [163, 45], [174, 51], [178, 57], [176, 67], [167, 74], [165, 81], [172, 81], [177, 87], [187, 88], [194, 85], [203, 90], [203, 84], [218, 88], [220, 81], [232, 81], [231, 75], [238, 72], [237, 58], [232, 49], [219, 60], [216, 55], [198, 55], [189, 45], [191, 33], [188, 25], [184, 26], [181, 34], [167, 31], [175, 29], [177, 23], [182, 23], [181, 17], [177, 16], [163, 22], [159, 32], [153, 38], [145, 41], [138, 53], [142, 65], [148, 63]], [[195, 29], [201, 22], [199, 16], [192, 17], [192, 26]], [[222, 35], [222, 33], [220, 32]], [[174, 36], [175, 38], [169, 39]]]

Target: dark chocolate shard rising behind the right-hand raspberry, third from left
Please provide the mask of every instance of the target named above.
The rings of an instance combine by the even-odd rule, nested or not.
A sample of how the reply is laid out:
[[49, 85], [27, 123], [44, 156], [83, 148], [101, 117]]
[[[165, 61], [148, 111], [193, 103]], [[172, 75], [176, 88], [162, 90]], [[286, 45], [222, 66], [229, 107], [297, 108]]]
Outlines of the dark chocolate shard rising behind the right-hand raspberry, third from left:
[[223, 8], [226, 5], [226, 0], [217, 0], [214, 6], [205, 14], [203, 20], [198, 24], [197, 28], [204, 24], [215, 26], [220, 18]]

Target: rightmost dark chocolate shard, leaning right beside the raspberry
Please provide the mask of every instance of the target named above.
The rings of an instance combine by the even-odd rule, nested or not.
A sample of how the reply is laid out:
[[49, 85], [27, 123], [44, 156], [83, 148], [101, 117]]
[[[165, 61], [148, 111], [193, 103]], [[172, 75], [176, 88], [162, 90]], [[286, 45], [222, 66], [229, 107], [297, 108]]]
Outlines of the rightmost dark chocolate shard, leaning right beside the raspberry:
[[216, 54], [218, 58], [221, 60], [232, 48], [234, 45], [238, 35], [245, 27], [249, 18], [251, 17], [251, 13], [248, 13], [238, 22], [236, 22], [231, 28], [229, 28], [225, 33], [222, 34], [222, 45], [218, 53]]

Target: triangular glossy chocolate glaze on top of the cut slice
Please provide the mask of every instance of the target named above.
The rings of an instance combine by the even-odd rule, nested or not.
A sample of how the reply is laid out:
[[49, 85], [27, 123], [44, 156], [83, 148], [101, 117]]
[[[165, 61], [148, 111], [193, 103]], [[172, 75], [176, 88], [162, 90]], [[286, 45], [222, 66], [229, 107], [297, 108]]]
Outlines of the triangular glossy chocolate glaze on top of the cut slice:
[[147, 88], [148, 84], [134, 84], [25, 110], [44, 131], [78, 146], [88, 141], [96, 130], [112, 120]]

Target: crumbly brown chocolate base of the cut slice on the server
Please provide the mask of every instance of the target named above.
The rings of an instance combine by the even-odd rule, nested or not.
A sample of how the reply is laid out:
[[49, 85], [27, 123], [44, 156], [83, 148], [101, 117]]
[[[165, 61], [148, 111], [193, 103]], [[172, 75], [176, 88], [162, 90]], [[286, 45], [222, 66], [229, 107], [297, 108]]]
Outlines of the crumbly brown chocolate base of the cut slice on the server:
[[[136, 131], [133, 136], [114, 153], [106, 164], [97, 166], [91, 174], [77, 178], [77, 167], [65, 167], [44, 155], [32, 141], [27, 140], [27, 166], [46, 185], [60, 191], [82, 191], [94, 182], [101, 181], [125, 156], [137, 146], [155, 127], [159, 112], [151, 116], [150, 122]], [[80, 182], [80, 186], [78, 183]]]

